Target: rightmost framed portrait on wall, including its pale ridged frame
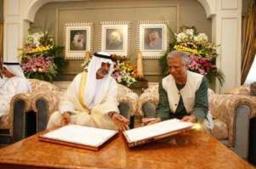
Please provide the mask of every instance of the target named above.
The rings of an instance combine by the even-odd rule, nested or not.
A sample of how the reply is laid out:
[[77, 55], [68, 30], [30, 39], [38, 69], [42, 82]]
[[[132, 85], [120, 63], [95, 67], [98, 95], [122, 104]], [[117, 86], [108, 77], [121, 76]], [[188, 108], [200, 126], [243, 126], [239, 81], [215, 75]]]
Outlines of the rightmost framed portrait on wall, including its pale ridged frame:
[[168, 21], [139, 21], [137, 23], [137, 51], [143, 59], [159, 59], [169, 44]]

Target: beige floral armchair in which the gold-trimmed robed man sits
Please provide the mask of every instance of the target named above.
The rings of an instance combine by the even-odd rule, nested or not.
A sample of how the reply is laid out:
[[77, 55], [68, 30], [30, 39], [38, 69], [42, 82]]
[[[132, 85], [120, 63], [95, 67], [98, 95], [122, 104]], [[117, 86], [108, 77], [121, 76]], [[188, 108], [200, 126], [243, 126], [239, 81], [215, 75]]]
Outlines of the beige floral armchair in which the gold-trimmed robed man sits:
[[[32, 84], [38, 86], [36, 95], [33, 97], [31, 106], [33, 111], [40, 116], [38, 119], [38, 131], [46, 128], [47, 122], [52, 113], [58, 110], [59, 101], [64, 96], [65, 91], [61, 91], [55, 85], [44, 81], [32, 81]], [[47, 84], [46, 84], [47, 83]], [[44, 86], [43, 84], [46, 84]], [[66, 86], [68, 87], [68, 86]], [[138, 95], [133, 93], [131, 89], [118, 84], [118, 102], [119, 110], [122, 115], [130, 118], [130, 128], [134, 125], [134, 114], [137, 111]]]

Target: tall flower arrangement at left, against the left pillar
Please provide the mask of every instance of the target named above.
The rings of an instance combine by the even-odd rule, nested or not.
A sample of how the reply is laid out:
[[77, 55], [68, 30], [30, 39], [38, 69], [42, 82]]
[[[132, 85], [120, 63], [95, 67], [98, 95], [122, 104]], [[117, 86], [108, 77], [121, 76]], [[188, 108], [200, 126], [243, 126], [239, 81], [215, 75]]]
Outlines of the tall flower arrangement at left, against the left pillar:
[[27, 78], [53, 81], [63, 65], [62, 47], [53, 45], [48, 32], [31, 33], [24, 48], [19, 49], [21, 66]]

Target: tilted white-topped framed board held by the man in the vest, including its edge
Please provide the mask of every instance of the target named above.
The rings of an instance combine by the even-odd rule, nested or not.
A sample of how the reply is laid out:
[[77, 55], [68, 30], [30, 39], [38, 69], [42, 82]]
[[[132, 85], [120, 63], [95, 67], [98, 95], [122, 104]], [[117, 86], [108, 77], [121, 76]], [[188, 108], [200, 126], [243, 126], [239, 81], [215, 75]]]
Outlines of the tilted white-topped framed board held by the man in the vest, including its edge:
[[145, 144], [157, 139], [191, 130], [194, 126], [190, 122], [182, 122], [179, 119], [171, 119], [163, 122], [138, 127], [123, 131], [124, 137], [129, 147]]

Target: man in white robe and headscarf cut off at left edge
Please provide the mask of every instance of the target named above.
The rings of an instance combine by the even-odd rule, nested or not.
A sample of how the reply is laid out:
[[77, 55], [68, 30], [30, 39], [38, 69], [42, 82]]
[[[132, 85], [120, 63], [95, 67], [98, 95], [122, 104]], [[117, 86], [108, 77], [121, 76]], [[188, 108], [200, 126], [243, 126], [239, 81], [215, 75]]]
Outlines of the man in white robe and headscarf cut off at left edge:
[[30, 91], [30, 83], [19, 63], [6, 63], [0, 68], [0, 118], [8, 114], [14, 95]]

